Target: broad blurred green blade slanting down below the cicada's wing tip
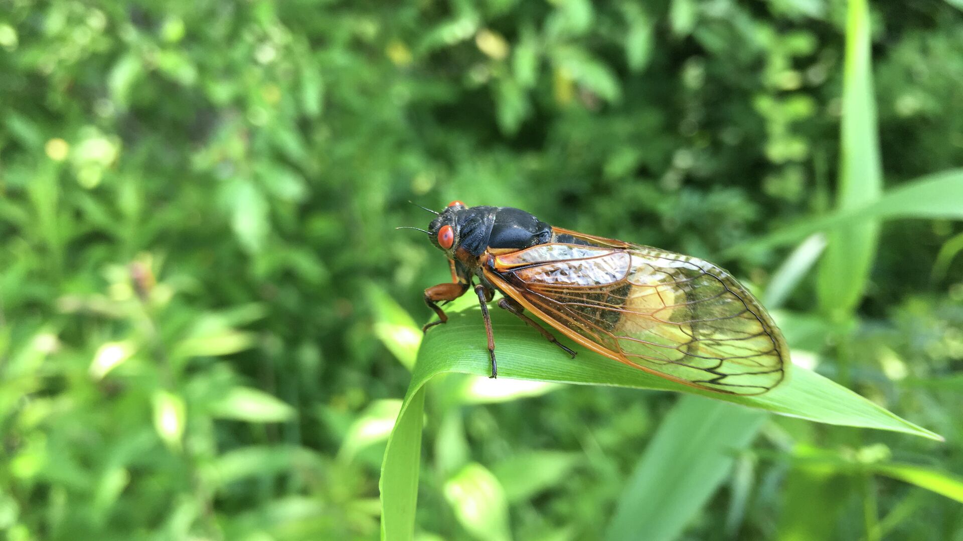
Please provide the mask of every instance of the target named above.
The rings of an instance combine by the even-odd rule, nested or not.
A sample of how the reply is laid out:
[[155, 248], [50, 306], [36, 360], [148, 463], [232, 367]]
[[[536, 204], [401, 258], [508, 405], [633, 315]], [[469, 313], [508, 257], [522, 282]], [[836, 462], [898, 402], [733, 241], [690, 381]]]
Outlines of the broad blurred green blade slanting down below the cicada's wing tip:
[[634, 541], [642, 532], [649, 541], [675, 539], [765, 420], [763, 412], [716, 400], [680, 399], [629, 478], [606, 540]]

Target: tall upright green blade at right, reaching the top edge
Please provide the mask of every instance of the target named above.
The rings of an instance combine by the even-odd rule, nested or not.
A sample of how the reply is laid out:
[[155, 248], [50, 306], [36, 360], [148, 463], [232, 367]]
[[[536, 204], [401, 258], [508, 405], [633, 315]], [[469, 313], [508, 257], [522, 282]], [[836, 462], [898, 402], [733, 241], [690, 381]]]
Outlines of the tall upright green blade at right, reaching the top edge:
[[[872, 91], [870, 9], [867, 0], [850, 0], [847, 4], [837, 193], [841, 209], [872, 203], [879, 198], [883, 186]], [[870, 279], [878, 235], [879, 224], [874, 220], [847, 225], [830, 235], [817, 274], [817, 293], [824, 313], [845, 315], [862, 298]]]

